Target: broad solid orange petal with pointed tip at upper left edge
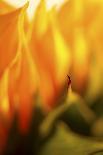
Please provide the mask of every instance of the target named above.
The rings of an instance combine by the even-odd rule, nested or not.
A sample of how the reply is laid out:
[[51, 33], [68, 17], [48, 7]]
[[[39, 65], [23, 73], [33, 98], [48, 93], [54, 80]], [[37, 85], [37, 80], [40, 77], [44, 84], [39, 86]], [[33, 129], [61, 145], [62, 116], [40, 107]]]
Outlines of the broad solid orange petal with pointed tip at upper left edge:
[[18, 18], [21, 9], [0, 15], [0, 75], [14, 59], [19, 46]]

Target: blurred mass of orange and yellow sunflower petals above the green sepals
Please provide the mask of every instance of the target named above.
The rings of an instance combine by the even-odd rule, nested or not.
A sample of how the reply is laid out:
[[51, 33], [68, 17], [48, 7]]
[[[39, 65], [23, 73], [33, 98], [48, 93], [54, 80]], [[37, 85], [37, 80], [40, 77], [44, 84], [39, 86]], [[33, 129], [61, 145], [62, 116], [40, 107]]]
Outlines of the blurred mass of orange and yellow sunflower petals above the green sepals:
[[31, 21], [28, 5], [17, 9], [0, 2], [1, 150], [16, 113], [20, 132], [28, 132], [37, 93], [48, 115], [59, 106], [68, 76], [74, 96], [85, 102], [94, 102], [103, 90], [103, 1], [68, 0], [48, 10], [41, 0]]

